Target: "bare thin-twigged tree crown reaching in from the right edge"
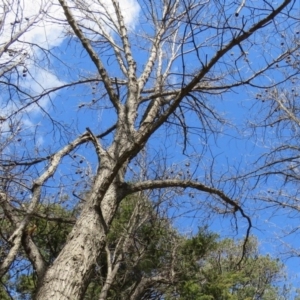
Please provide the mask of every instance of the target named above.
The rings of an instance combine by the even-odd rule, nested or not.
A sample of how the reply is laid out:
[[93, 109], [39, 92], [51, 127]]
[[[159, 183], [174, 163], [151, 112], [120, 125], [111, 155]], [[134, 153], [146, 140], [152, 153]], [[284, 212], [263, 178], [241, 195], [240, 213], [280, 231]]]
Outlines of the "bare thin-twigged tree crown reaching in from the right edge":
[[[299, 44], [299, 30], [292, 33], [294, 43]], [[285, 38], [282, 38], [282, 44]], [[260, 209], [268, 211], [284, 257], [298, 257], [299, 247], [291, 244], [299, 232], [299, 65], [300, 53], [289, 54], [276, 63], [274, 75], [285, 78], [276, 84], [272, 80], [256, 98], [250, 127], [256, 136], [258, 155], [246, 178], [253, 184], [253, 199]], [[282, 68], [284, 66], [284, 68]], [[275, 75], [276, 76], [276, 75]], [[244, 174], [245, 175], [245, 174]]]

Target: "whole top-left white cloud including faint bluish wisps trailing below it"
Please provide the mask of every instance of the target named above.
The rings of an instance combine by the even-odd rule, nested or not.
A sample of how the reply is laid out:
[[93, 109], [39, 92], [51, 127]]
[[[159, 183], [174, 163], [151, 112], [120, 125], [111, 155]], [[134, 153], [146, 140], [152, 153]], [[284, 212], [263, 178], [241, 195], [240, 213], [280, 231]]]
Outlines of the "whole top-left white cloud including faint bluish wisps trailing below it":
[[[0, 77], [10, 68], [16, 67], [22, 77], [22, 72], [26, 69], [28, 74], [24, 80], [17, 79], [16, 72], [11, 80], [15, 80], [21, 89], [27, 90], [31, 95], [38, 95], [45, 90], [63, 85], [64, 81], [59, 78], [59, 72], [55, 75], [47, 68], [48, 65], [44, 64], [41, 67], [37, 63], [45, 58], [43, 51], [51, 51], [53, 47], [59, 47], [67, 37], [66, 33], [71, 33], [58, 0], [2, 1], [0, 4]], [[80, 20], [80, 24], [96, 31], [99, 31], [100, 24], [107, 34], [114, 37], [115, 32], [112, 27], [114, 27], [116, 15], [111, 0], [73, 0], [68, 3], [76, 19]], [[96, 18], [87, 19], [82, 11], [74, 9], [74, 3], [92, 9]], [[134, 30], [140, 12], [138, 2], [120, 0], [119, 5], [125, 25], [129, 30]], [[105, 18], [106, 12], [110, 14], [110, 18]], [[50, 56], [48, 58], [51, 59]], [[51, 61], [49, 66], [52, 66]], [[3, 87], [0, 94], [0, 116], [7, 117], [26, 103], [18, 102], [18, 97], [13, 94], [12, 96], [6, 94], [4, 92], [6, 86]], [[54, 97], [55, 94], [52, 94], [52, 99]], [[43, 116], [41, 107], [47, 112], [51, 111], [48, 97], [41, 98], [38, 105], [33, 104], [22, 110], [22, 115], [18, 117], [19, 128], [22, 132], [35, 132], [36, 127], [41, 125]], [[10, 122], [7, 120], [0, 123], [2, 135], [9, 134]], [[36, 145], [43, 145], [44, 137], [38, 134], [35, 142]]]

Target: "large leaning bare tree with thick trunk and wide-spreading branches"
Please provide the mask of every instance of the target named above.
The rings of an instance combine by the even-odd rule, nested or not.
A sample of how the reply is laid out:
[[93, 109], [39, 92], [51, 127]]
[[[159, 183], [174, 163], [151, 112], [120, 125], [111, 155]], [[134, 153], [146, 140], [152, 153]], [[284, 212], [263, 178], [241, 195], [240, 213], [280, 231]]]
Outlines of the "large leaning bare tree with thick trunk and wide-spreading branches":
[[[243, 184], [225, 171], [216, 174], [213, 162], [203, 169], [199, 153], [227, 125], [214, 101], [235, 88], [258, 88], [298, 50], [299, 42], [274, 42], [286, 24], [296, 30], [296, 1], [124, 3], [49, 2], [17, 32], [28, 19], [25, 10], [13, 1], [2, 7], [9, 38], [1, 53], [15, 55], [14, 45], [26, 45], [31, 63], [22, 72], [31, 80], [20, 79], [22, 59], [1, 65], [0, 203], [12, 230], [0, 274], [23, 247], [37, 272], [36, 299], [83, 297], [120, 202], [136, 192], [199, 193], [203, 211], [244, 219], [249, 236]], [[15, 16], [12, 27], [6, 9]], [[59, 28], [55, 41], [19, 39], [30, 26], [48, 24]], [[169, 136], [172, 153], [186, 157], [182, 169], [168, 151], [153, 166], [141, 166], [138, 156], [165, 147]], [[41, 203], [81, 199], [86, 190], [64, 248], [47, 265], [28, 230], [31, 218], [53, 217], [39, 212]]]

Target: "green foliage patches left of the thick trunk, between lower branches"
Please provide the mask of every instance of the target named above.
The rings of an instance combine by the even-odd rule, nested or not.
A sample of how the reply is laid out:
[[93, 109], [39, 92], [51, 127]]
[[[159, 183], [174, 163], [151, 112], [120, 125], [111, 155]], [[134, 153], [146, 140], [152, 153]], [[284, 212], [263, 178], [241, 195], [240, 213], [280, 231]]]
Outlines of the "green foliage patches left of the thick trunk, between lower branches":
[[[72, 226], [73, 214], [57, 204], [40, 205], [39, 216], [34, 216], [27, 233], [39, 248], [46, 263], [51, 264], [65, 244]], [[68, 220], [64, 222], [63, 220]], [[32, 230], [34, 229], [34, 230]], [[2, 220], [2, 236], [9, 236], [9, 222]], [[17, 299], [32, 299], [36, 290], [36, 276], [24, 251], [18, 253], [18, 266], [12, 268], [8, 276], [2, 278], [3, 287], [0, 288], [0, 299], [12, 299], [9, 294], [18, 295]], [[4, 286], [6, 288], [4, 288]]]

